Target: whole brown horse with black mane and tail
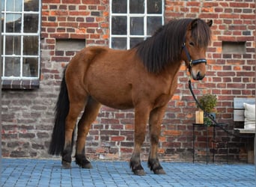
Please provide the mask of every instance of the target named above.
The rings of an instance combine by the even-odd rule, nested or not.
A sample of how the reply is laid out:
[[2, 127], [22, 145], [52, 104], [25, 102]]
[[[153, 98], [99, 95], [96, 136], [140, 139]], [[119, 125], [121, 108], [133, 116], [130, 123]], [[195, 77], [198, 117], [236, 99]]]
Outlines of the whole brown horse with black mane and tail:
[[130, 168], [134, 174], [145, 174], [140, 153], [149, 123], [148, 166], [154, 174], [165, 174], [157, 156], [162, 117], [177, 88], [177, 72], [183, 61], [193, 79], [204, 78], [211, 25], [212, 21], [201, 19], [174, 19], [129, 50], [103, 46], [82, 49], [64, 71], [49, 153], [61, 154], [63, 167], [70, 168], [73, 132], [84, 110], [78, 123], [75, 157], [77, 165], [91, 168], [85, 157], [85, 139], [100, 105], [135, 108]]

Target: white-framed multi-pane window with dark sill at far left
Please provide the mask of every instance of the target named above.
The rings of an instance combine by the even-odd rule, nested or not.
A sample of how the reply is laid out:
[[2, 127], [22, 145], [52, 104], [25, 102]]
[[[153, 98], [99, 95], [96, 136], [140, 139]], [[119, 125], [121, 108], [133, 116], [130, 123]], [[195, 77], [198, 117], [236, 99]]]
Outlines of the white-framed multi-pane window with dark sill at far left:
[[2, 88], [39, 86], [40, 4], [40, 0], [1, 0]]

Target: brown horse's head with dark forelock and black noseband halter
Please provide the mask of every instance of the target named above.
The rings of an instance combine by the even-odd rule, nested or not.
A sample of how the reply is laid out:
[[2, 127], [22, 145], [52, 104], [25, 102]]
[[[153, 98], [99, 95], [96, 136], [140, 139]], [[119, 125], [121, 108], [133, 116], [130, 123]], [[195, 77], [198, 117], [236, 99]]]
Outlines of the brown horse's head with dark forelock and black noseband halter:
[[210, 43], [210, 26], [213, 21], [193, 19], [189, 23], [183, 40], [182, 57], [194, 80], [204, 79], [206, 73], [206, 50]]

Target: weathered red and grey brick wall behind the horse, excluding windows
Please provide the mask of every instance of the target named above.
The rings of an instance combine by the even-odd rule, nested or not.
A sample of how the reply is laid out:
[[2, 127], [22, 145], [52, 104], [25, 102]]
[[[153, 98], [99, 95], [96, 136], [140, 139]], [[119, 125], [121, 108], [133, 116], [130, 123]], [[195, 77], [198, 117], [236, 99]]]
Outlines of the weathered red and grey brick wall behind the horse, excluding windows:
[[[64, 66], [75, 55], [73, 49], [60, 50], [58, 41], [79, 40], [108, 46], [109, 1], [43, 0], [41, 28], [40, 89], [2, 91], [2, 155], [7, 157], [49, 158], [47, 147], [52, 132], [54, 107]], [[229, 123], [233, 132], [233, 98], [255, 96], [255, 1], [165, 1], [165, 20], [201, 17], [213, 19], [213, 41], [207, 52], [207, 77], [193, 82], [195, 93], [218, 97], [217, 119]], [[223, 42], [246, 42], [246, 53], [225, 54]], [[234, 43], [233, 43], [234, 44]], [[169, 102], [162, 122], [159, 143], [161, 159], [192, 161], [192, 123], [195, 102], [188, 90], [185, 67], [180, 69], [178, 90]], [[88, 135], [86, 152], [91, 159], [129, 159], [133, 146], [133, 111], [103, 106]], [[205, 133], [197, 132], [197, 146], [205, 146]], [[211, 133], [211, 132], [210, 132]], [[229, 150], [222, 140], [229, 141]], [[228, 137], [217, 131], [216, 159], [245, 162], [243, 138]], [[252, 140], [249, 140], [252, 141]], [[213, 144], [210, 144], [211, 151]], [[147, 159], [149, 138], [143, 146]], [[205, 150], [197, 152], [204, 159]]]

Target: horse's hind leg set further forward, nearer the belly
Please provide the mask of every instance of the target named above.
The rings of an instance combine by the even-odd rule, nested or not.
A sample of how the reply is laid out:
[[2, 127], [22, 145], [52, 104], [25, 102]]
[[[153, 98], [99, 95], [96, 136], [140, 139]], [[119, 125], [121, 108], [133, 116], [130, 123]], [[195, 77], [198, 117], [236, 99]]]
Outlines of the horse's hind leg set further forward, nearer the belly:
[[76, 164], [82, 168], [91, 168], [91, 163], [85, 157], [85, 140], [91, 123], [96, 119], [99, 109], [100, 103], [89, 96], [85, 105], [85, 111], [79, 120], [76, 141]]

